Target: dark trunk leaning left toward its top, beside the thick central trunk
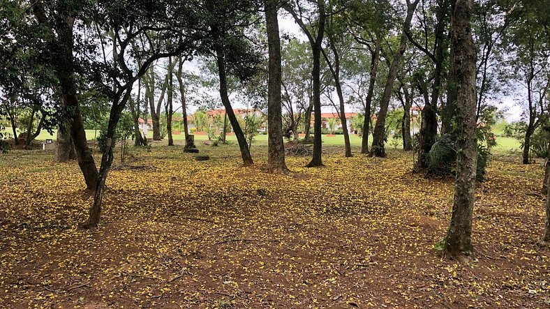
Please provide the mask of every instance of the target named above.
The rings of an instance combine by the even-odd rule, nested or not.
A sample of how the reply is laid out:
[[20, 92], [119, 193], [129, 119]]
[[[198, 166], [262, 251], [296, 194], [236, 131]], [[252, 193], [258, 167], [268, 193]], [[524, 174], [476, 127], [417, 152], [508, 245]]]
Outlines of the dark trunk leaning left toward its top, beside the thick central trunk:
[[218, 64], [218, 75], [220, 77], [220, 96], [221, 102], [225, 107], [225, 112], [228, 114], [229, 121], [235, 132], [235, 137], [237, 137], [237, 142], [239, 142], [239, 149], [241, 149], [241, 157], [243, 160], [244, 166], [253, 165], [252, 156], [250, 150], [248, 149], [248, 143], [246, 142], [246, 137], [244, 136], [241, 126], [239, 126], [239, 121], [237, 121], [237, 116], [231, 107], [231, 103], [228, 95], [228, 82], [227, 76], [225, 74], [225, 59], [223, 59], [223, 54], [221, 50], [216, 50], [216, 62]]

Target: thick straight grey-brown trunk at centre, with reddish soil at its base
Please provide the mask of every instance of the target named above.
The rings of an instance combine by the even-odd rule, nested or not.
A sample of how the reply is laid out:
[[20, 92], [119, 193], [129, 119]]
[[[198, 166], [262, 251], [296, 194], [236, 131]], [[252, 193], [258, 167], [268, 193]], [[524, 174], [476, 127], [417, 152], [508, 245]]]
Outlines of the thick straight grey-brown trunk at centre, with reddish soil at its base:
[[269, 52], [267, 81], [267, 165], [274, 173], [288, 174], [283, 144], [283, 116], [281, 111], [281, 40], [278, 34], [278, 1], [265, 1], [265, 22]]

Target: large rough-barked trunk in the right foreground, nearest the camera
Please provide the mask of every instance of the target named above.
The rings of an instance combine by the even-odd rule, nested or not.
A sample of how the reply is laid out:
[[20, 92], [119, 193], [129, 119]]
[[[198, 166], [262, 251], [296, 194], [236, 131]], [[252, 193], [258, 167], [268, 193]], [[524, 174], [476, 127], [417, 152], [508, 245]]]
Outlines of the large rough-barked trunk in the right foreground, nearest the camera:
[[477, 135], [475, 134], [477, 57], [470, 17], [473, 0], [454, 0], [451, 21], [453, 60], [456, 74], [456, 184], [452, 218], [445, 236], [445, 251], [452, 255], [472, 254], [472, 217], [475, 199]]

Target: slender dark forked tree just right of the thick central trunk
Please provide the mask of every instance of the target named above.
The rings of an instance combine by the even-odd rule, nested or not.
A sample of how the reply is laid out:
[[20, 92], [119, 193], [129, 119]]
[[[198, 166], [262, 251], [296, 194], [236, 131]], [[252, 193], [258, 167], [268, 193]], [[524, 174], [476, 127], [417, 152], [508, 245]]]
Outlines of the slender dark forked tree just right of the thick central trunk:
[[[325, 0], [316, 0], [316, 17], [317, 20], [314, 24], [306, 25], [304, 23], [304, 13], [306, 9], [301, 5], [300, 1], [296, 1], [294, 6], [290, 3], [284, 6], [285, 10], [292, 15], [295, 22], [299, 25], [300, 29], [306, 34], [309, 45], [311, 45], [311, 54], [313, 56], [313, 68], [311, 70], [311, 78], [313, 80], [313, 112], [315, 117], [315, 128], [313, 131], [313, 158], [311, 162], [306, 165], [307, 167], [320, 167], [322, 166], [321, 153], [322, 153], [322, 140], [321, 140], [321, 80], [320, 80], [320, 67], [321, 67], [321, 50], [322, 39], [325, 34]], [[309, 12], [311, 15], [314, 13]], [[317, 33], [313, 33], [311, 27], [316, 26]], [[315, 36], [313, 36], [315, 35]], [[306, 120], [307, 123], [307, 120]]]

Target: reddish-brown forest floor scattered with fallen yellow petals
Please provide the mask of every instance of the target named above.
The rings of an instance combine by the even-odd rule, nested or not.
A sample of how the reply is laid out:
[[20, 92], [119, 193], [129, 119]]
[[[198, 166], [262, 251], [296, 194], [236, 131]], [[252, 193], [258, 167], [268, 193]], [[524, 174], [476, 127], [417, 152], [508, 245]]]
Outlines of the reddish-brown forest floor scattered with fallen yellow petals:
[[[1, 308], [549, 308], [550, 249], [540, 164], [493, 158], [478, 186], [475, 258], [434, 245], [454, 181], [388, 158], [325, 147], [325, 167], [265, 146], [131, 149], [107, 180], [101, 225], [80, 229], [91, 197], [76, 163], [52, 152], [0, 156]], [[357, 149], [354, 149], [357, 150]], [[96, 153], [96, 158], [98, 154]]]

